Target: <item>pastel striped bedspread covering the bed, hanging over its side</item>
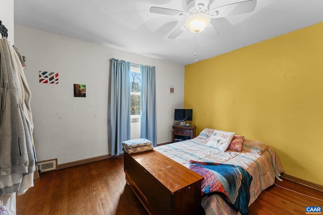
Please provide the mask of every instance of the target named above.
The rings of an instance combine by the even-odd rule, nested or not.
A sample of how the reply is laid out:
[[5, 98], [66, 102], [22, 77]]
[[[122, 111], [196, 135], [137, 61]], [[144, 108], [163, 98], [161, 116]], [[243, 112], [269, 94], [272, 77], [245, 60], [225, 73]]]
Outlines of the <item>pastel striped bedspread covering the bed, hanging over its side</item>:
[[[205, 146], [206, 143], [204, 139], [194, 138], [155, 147], [154, 150], [187, 168], [190, 160], [232, 164], [244, 168], [253, 178], [249, 189], [249, 206], [262, 190], [274, 184], [276, 174], [284, 172], [276, 152], [270, 147], [261, 155], [257, 155], [243, 149], [241, 152], [232, 150], [221, 152], [216, 148]], [[202, 198], [202, 206], [206, 214], [239, 214], [216, 194]]]

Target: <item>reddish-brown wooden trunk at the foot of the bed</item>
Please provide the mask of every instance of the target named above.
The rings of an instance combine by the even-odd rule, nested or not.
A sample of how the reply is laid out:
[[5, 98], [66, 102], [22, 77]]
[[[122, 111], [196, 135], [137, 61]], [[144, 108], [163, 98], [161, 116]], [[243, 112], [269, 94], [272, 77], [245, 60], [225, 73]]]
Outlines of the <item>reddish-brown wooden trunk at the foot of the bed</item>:
[[150, 214], [199, 214], [202, 176], [154, 150], [124, 153], [124, 170]]

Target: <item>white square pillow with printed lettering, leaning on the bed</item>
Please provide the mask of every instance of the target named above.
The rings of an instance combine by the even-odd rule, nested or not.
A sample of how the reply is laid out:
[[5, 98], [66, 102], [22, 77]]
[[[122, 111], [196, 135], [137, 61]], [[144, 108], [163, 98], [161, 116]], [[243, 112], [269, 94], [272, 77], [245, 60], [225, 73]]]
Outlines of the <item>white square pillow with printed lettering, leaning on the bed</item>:
[[235, 132], [214, 130], [210, 140], [208, 140], [205, 146], [218, 148], [222, 152], [225, 152], [235, 134]]

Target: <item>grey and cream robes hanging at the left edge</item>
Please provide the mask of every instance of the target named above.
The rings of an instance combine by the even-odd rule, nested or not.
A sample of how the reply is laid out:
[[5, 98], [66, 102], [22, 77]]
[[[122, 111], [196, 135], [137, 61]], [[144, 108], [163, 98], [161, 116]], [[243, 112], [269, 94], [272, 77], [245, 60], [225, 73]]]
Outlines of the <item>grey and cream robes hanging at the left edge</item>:
[[27, 82], [20, 68], [19, 57], [7, 38], [0, 39], [0, 196], [23, 193], [33, 186], [33, 124], [30, 107], [25, 104]]

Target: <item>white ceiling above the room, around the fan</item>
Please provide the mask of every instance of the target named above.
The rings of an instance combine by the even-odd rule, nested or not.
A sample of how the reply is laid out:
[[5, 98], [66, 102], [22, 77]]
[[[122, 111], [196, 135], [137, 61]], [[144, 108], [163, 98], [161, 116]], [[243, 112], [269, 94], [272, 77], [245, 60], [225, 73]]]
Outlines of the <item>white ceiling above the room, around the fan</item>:
[[[184, 11], [187, 1], [14, 0], [15, 24], [187, 65], [195, 62], [195, 43], [202, 60], [323, 21], [322, 0], [257, 0], [251, 13], [218, 18], [215, 39], [189, 30], [168, 39], [185, 18], [149, 8]], [[211, 7], [241, 1], [214, 0]]]

